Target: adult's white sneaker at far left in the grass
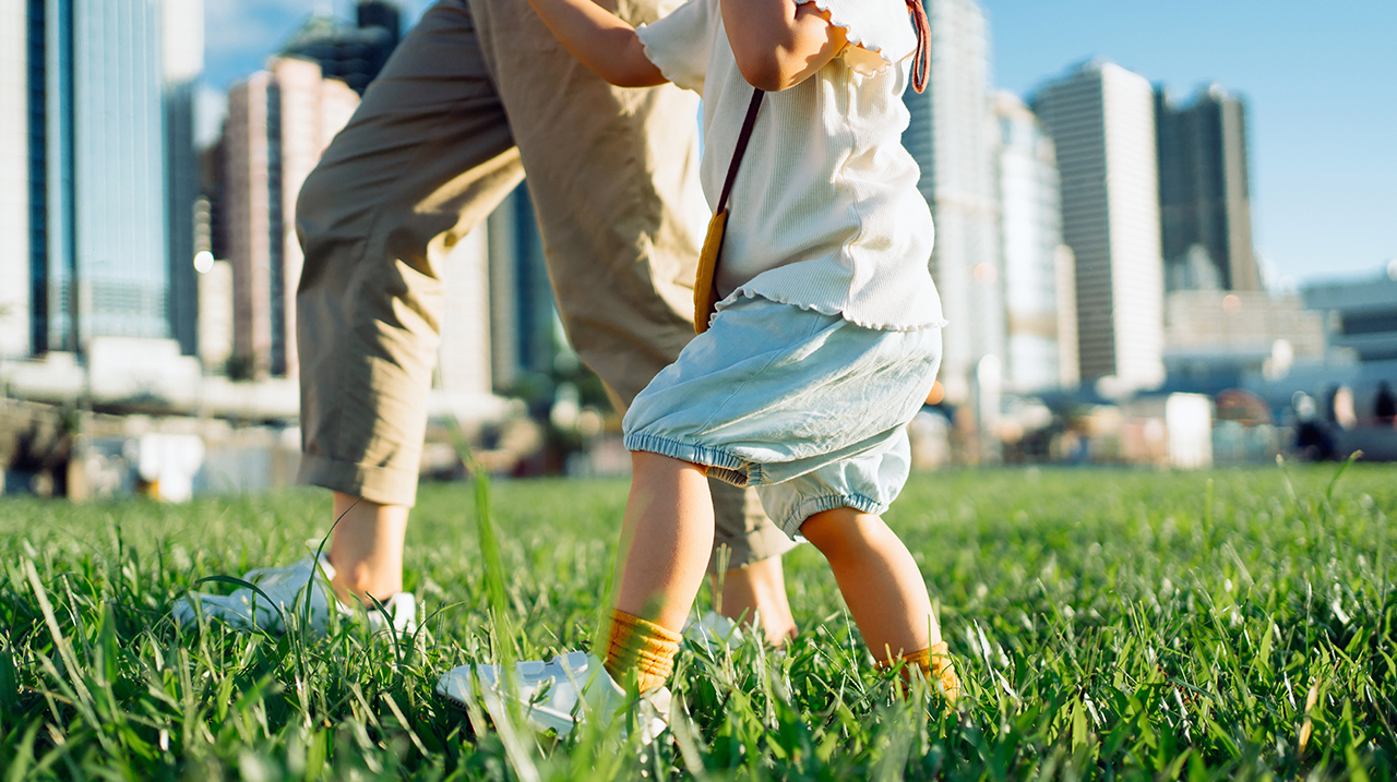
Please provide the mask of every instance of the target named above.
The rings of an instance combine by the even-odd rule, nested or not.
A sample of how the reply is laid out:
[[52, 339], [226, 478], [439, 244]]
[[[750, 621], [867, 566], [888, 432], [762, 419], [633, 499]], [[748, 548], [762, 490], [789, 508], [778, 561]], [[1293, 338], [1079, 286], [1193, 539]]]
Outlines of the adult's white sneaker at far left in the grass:
[[[319, 567], [317, 567], [319, 566]], [[232, 595], [210, 595], [207, 592], [190, 592], [176, 600], [173, 613], [180, 624], [193, 624], [200, 613], [211, 619], [218, 619], [231, 627], [251, 630], [258, 628], [268, 633], [285, 633], [284, 614], [306, 610], [306, 600], [310, 607], [310, 621], [307, 627], [317, 633], [330, 627], [331, 612], [348, 620], [363, 616], [369, 623], [369, 630], [379, 633], [391, 627], [397, 633], [416, 633], [418, 603], [412, 592], [398, 592], [384, 600], [380, 612], [376, 606], [367, 610], [356, 610], [339, 602], [330, 581], [335, 577], [335, 567], [324, 556], [320, 560], [306, 557], [289, 567], [264, 567], [250, 570], [243, 574], [243, 581], [256, 584], [267, 598], [246, 586], [235, 589]]]

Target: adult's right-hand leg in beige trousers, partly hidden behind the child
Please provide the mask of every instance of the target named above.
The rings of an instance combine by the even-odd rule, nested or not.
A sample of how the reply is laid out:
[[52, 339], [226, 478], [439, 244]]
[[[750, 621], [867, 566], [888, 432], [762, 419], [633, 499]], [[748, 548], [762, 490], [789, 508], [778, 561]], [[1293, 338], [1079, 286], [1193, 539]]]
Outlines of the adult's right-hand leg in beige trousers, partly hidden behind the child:
[[[631, 24], [658, 17], [655, 0], [610, 6]], [[529, 170], [563, 325], [624, 409], [694, 337], [693, 279], [708, 219], [698, 99], [672, 85], [605, 84], [525, 3], [471, 0], [471, 8]], [[777, 559], [792, 543], [754, 497], [718, 482], [711, 492], [714, 547], [729, 552], [722, 612], [760, 612], [768, 640], [780, 642], [795, 628]]]

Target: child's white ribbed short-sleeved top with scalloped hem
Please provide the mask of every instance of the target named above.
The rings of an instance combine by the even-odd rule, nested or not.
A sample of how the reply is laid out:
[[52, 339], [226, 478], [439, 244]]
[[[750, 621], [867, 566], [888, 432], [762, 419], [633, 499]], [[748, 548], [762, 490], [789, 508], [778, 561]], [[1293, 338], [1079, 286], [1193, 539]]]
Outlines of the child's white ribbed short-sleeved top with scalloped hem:
[[[768, 94], [728, 202], [718, 274], [725, 303], [761, 296], [866, 328], [946, 325], [932, 282], [932, 212], [902, 148], [902, 89], [916, 34], [904, 0], [813, 0], [856, 46]], [[689, 0], [640, 28], [645, 54], [703, 95], [701, 180], [728, 175], [752, 85], [738, 70], [719, 0]], [[895, 67], [894, 67], [895, 66]]]

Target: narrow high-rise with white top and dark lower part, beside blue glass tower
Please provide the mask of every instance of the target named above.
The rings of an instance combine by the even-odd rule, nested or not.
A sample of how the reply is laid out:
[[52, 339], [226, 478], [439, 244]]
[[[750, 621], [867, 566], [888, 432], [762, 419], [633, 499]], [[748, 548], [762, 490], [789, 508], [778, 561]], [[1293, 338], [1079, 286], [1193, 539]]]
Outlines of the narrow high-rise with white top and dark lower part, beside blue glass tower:
[[194, 102], [204, 71], [204, 0], [165, 0], [165, 186], [169, 197], [169, 330], [186, 356], [198, 353], [194, 201], [198, 154]]

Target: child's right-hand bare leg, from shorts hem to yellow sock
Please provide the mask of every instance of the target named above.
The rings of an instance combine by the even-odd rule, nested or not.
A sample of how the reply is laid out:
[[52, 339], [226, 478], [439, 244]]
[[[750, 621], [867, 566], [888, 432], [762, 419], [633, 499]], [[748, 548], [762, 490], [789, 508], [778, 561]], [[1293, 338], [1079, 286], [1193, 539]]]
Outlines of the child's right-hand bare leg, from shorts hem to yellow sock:
[[807, 518], [800, 533], [830, 561], [876, 659], [897, 659], [942, 641], [916, 561], [882, 518], [835, 508]]

